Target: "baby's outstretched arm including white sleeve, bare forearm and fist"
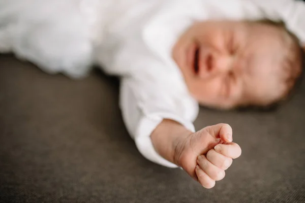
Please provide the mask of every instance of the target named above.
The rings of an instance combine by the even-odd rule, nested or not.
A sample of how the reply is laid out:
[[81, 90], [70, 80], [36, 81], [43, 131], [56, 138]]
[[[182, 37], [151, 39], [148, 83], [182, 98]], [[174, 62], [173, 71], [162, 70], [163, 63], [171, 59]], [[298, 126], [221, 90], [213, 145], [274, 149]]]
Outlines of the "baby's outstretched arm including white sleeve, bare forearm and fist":
[[[148, 160], [167, 167], [179, 166], [205, 188], [214, 187], [215, 181], [224, 178], [232, 158], [241, 153], [232, 143], [232, 128], [217, 124], [195, 132], [194, 118], [189, 113], [198, 106], [185, 100], [185, 94], [171, 95], [166, 91], [166, 82], [161, 82], [158, 88], [158, 80], [151, 81], [144, 75], [121, 80], [120, 108], [131, 137]], [[209, 152], [217, 145], [224, 153]], [[201, 159], [206, 156], [208, 161]]]

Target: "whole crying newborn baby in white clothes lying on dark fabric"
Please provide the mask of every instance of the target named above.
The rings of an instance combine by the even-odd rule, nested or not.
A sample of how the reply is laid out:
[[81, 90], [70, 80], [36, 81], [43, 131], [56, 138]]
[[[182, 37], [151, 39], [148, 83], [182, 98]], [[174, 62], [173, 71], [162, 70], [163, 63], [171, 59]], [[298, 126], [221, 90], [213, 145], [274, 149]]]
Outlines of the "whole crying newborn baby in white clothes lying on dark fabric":
[[120, 77], [119, 105], [140, 153], [211, 188], [241, 149], [228, 124], [195, 131], [198, 104], [285, 99], [302, 72], [304, 11], [290, 0], [12, 0], [0, 3], [0, 52], [47, 73], [79, 78], [98, 64]]

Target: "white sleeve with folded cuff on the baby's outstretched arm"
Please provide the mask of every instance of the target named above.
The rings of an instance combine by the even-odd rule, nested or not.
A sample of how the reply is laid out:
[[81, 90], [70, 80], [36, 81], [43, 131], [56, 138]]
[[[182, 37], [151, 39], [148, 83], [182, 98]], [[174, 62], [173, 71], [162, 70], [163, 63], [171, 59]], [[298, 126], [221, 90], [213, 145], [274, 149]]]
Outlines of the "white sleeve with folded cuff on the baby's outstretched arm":
[[157, 164], [177, 167], [156, 152], [150, 134], [163, 119], [179, 122], [194, 132], [192, 121], [198, 114], [198, 105], [187, 98], [175, 100], [147, 81], [123, 78], [120, 83], [120, 108], [139, 152]]

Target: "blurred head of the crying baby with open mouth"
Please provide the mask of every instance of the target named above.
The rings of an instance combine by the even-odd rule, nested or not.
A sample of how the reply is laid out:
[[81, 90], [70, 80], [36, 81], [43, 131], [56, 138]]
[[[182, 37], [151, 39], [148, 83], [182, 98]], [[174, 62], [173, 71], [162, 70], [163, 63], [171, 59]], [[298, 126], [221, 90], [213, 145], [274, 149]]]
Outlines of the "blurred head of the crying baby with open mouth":
[[201, 105], [266, 107], [285, 99], [301, 75], [298, 43], [281, 23], [206, 21], [179, 38], [173, 59]]

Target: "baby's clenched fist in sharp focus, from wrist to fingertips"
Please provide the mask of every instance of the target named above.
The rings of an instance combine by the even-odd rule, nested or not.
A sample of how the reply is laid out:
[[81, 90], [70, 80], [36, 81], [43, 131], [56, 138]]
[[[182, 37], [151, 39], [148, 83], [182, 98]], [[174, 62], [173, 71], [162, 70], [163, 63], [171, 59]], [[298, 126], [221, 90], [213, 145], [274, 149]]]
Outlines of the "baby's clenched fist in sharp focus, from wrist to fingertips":
[[212, 188], [215, 181], [225, 177], [232, 159], [241, 154], [240, 147], [232, 140], [232, 128], [228, 124], [205, 127], [179, 142], [175, 162], [203, 187]]

